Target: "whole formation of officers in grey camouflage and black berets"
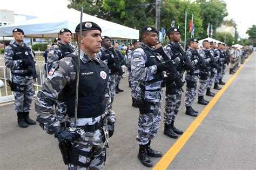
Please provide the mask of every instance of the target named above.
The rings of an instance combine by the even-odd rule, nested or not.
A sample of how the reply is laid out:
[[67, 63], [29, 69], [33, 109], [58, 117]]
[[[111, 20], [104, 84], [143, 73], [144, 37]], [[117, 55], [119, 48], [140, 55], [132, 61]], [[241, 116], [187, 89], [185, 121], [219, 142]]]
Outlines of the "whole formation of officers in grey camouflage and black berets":
[[[79, 35], [80, 26], [82, 26], [82, 35]], [[116, 121], [112, 109], [114, 95], [116, 90], [122, 91], [118, 83], [122, 76], [119, 70], [123, 60], [117, 50], [118, 43], [112, 43], [107, 36], [100, 37], [102, 30], [96, 23], [78, 24], [75, 32], [77, 42], [78, 39], [81, 42], [77, 121], [75, 122], [74, 117], [78, 48], [75, 49], [70, 45], [72, 33], [69, 29], [60, 30], [60, 43], [53, 45], [48, 53], [48, 66], [51, 70], [35, 101], [37, 121], [47, 133], [55, 134], [55, 137], [61, 141], [60, 144], [63, 144], [63, 141], [67, 142], [65, 146], [69, 156], [66, 157], [64, 152], [61, 153], [63, 158], [66, 158], [64, 163], [68, 164], [70, 169], [84, 167], [102, 169], [105, 164], [107, 142], [113, 135]], [[156, 29], [145, 26], [141, 35], [142, 42], [136, 40], [133, 43], [134, 50], [128, 53], [128, 67], [133, 106], [139, 107], [136, 138], [139, 144], [138, 159], [143, 165], [152, 167], [149, 157], [162, 156], [161, 152], [154, 151], [150, 147], [160, 123], [160, 103], [163, 97], [161, 88], [165, 84], [164, 134], [171, 138], [178, 138], [178, 135], [183, 134], [183, 131], [174, 126], [182, 91], [174, 81], [176, 77], [173, 72], [152, 49], [158, 40]], [[35, 91], [33, 78], [28, 69], [31, 65], [28, 59], [33, 57], [33, 54], [31, 48], [23, 43], [23, 30], [14, 29], [13, 36], [15, 42], [7, 46], [4, 51], [5, 65], [11, 69], [12, 83], [17, 86], [14, 95], [18, 125], [28, 127], [28, 124], [36, 124], [29, 118]], [[208, 103], [203, 98], [206, 88], [207, 94], [214, 95], [210, 91], [213, 81], [217, 89], [220, 88], [218, 83], [224, 84], [223, 69], [227, 64], [224, 45], [218, 44], [218, 49], [214, 50], [216, 43], [211, 42], [212, 49], [208, 50], [210, 43], [203, 42], [203, 49], [199, 50], [203, 61], [195, 53], [198, 40], [191, 39], [190, 48], [186, 52], [188, 60], [193, 64], [193, 71], [190, 71], [187, 69], [184, 53], [174, 47], [180, 41], [179, 29], [171, 28], [168, 37], [170, 42], [164, 47], [164, 51], [171, 58], [180, 77], [183, 77], [184, 70], [187, 70], [186, 114], [197, 116], [198, 112], [191, 107], [196, 96], [197, 80], [199, 79], [198, 103], [201, 104]], [[234, 49], [231, 52], [232, 71], [238, 67], [239, 57], [236, 54]], [[116, 60], [118, 56], [120, 59]]]

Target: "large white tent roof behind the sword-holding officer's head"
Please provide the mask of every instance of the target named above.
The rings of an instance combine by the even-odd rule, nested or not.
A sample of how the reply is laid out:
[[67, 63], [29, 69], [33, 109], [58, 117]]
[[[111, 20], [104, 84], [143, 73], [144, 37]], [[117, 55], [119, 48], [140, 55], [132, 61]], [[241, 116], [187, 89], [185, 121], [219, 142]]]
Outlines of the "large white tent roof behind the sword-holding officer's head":
[[[83, 13], [83, 21], [95, 22], [102, 28], [102, 35], [112, 38], [138, 39], [139, 30], [120, 24], [105, 21], [86, 13]], [[25, 22], [10, 24], [0, 27], [0, 36], [11, 36], [12, 30], [20, 28], [26, 37], [55, 38], [59, 30], [68, 28], [75, 33], [75, 28], [80, 22], [80, 11], [68, 9], [56, 13], [48, 13], [43, 17], [29, 19]]]

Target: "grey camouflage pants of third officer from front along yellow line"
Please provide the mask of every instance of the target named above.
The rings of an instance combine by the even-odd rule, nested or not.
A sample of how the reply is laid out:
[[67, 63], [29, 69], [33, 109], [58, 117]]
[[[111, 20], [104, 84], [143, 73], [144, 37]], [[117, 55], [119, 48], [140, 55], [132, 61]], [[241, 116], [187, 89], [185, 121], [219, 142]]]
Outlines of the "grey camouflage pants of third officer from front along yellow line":
[[194, 99], [196, 98], [197, 95], [197, 81], [198, 81], [199, 76], [193, 76], [186, 74], [185, 80], [192, 81], [196, 86], [194, 87], [189, 87], [187, 85], [186, 87], [186, 93], [185, 93], [185, 106], [191, 106]]

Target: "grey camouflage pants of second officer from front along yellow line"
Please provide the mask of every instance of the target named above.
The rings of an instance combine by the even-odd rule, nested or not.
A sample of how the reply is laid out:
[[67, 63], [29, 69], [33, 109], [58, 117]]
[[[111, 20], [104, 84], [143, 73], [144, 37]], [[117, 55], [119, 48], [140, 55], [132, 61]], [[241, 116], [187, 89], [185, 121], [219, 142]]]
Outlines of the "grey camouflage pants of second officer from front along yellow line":
[[[166, 85], [166, 90], [167, 88], [169, 87]], [[164, 123], [167, 125], [176, 119], [181, 104], [181, 94], [181, 89], [175, 90], [172, 94], [165, 94]]]

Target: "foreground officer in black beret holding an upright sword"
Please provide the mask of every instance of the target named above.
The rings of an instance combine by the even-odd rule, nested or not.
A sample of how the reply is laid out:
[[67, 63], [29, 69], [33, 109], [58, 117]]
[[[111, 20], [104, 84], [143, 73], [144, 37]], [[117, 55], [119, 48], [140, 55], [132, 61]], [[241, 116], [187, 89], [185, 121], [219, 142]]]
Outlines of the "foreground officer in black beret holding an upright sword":
[[58, 126], [59, 121], [53, 113], [53, 103], [63, 90], [68, 108], [66, 125], [74, 125], [78, 48], [53, 65], [52, 75], [46, 78], [37, 94], [37, 121], [47, 133], [70, 143], [69, 169], [102, 169], [109, 136], [107, 124], [112, 128], [114, 123], [114, 116], [105, 111], [109, 68], [96, 57], [102, 42], [100, 27], [93, 22], [83, 22], [82, 35], [79, 29], [80, 24], [75, 30], [76, 38], [81, 38], [77, 127], [85, 132], [83, 138], [81, 140], [77, 131], [71, 133], [67, 127]]

